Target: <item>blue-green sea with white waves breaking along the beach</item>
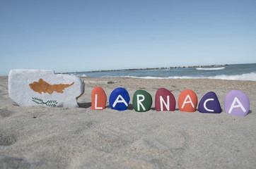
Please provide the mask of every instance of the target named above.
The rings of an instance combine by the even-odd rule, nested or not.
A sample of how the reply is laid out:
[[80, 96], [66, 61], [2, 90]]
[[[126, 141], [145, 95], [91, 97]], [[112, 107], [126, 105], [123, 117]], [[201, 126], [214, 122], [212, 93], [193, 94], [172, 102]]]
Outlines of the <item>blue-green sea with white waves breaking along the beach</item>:
[[256, 81], [256, 63], [212, 67], [156, 68], [145, 70], [87, 71], [69, 73], [81, 77], [132, 77], [143, 79], [219, 79]]

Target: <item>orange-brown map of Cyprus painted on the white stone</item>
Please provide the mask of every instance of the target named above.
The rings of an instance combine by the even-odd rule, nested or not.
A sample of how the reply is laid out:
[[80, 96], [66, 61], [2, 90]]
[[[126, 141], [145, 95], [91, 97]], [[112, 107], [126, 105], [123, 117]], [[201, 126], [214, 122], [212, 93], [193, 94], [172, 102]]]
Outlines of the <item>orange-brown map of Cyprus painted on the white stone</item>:
[[30, 83], [29, 86], [39, 94], [42, 94], [42, 92], [52, 94], [53, 92], [63, 93], [65, 88], [70, 87], [73, 84], [74, 82], [71, 84], [49, 84], [45, 82], [45, 80], [40, 79], [38, 82]]

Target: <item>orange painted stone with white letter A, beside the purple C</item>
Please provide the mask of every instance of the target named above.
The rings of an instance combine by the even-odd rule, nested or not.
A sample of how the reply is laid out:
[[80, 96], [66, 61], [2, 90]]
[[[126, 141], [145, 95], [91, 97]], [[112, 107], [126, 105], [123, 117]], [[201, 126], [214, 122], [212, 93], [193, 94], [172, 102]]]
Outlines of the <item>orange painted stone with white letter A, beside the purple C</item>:
[[180, 93], [178, 98], [178, 106], [180, 111], [194, 112], [197, 109], [197, 94], [190, 90], [185, 89]]

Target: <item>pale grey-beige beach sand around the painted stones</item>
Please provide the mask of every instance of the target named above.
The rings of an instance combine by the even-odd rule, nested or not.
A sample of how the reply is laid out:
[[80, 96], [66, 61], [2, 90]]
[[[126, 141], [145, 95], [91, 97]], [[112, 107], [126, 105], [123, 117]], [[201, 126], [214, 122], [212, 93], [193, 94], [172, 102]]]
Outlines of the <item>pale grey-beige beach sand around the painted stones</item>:
[[[144, 80], [83, 77], [80, 108], [20, 107], [8, 97], [8, 77], [0, 77], [0, 168], [255, 168], [256, 82], [232, 80]], [[144, 89], [192, 89], [223, 99], [232, 89], [250, 98], [245, 117], [228, 113], [91, 110], [91, 89], [107, 97], [125, 87], [132, 98]], [[131, 103], [131, 101], [130, 101]], [[108, 105], [108, 104], [107, 104]]]

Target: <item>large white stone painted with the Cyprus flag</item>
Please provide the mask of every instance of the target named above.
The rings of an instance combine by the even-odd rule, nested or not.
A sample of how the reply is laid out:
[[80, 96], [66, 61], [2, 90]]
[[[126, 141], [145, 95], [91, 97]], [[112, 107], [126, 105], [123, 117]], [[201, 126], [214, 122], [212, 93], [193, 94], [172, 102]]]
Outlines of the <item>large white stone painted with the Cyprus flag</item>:
[[19, 106], [78, 107], [84, 82], [53, 70], [13, 69], [8, 75], [9, 96]]

